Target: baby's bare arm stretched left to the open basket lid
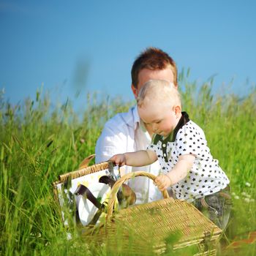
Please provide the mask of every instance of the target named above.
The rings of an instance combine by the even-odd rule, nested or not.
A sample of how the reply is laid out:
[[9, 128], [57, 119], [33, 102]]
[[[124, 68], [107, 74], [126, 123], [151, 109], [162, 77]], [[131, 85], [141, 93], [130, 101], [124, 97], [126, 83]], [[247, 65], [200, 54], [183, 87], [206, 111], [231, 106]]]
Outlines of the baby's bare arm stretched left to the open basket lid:
[[144, 166], [151, 165], [157, 161], [157, 154], [151, 150], [140, 150], [135, 152], [127, 152], [124, 154], [116, 154], [110, 158], [110, 161], [118, 166]]

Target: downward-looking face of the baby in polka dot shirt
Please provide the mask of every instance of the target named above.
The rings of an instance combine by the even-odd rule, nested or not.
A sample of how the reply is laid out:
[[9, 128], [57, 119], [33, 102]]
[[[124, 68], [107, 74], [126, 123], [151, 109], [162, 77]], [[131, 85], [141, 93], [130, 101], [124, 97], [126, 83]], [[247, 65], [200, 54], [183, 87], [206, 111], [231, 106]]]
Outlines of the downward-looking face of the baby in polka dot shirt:
[[151, 127], [154, 133], [167, 137], [178, 124], [180, 115], [177, 115], [174, 106], [162, 102], [148, 102], [138, 108], [141, 120]]

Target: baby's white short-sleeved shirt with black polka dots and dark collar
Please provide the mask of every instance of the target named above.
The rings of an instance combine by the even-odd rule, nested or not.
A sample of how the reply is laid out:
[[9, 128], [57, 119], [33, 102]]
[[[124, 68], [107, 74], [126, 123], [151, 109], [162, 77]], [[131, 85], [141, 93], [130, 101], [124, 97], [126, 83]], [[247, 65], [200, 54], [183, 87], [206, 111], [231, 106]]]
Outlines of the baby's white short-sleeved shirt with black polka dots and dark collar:
[[211, 156], [203, 130], [189, 120], [186, 112], [182, 112], [182, 115], [173, 134], [165, 139], [156, 135], [148, 150], [156, 152], [162, 173], [165, 174], [176, 165], [179, 156], [195, 156], [187, 177], [172, 186], [178, 199], [192, 202], [196, 198], [219, 192], [230, 181], [219, 167], [218, 160]]

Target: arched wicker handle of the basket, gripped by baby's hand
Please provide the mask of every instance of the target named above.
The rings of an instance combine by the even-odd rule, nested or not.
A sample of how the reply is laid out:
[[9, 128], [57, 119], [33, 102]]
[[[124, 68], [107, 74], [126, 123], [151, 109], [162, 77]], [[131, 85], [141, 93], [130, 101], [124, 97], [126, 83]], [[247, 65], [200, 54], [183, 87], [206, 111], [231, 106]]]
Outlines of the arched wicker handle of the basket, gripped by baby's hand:
[[[144, 171], [127, 173], [126, 175], [119, 178], [118, 181], [116, 181], [116, 183], [113, 185], [113, 187], [111, 189], [111, 192], [110, 192], [110, 200], [108, 201], [108, 209], [107, 209], [107, 219], [110, 219], [110, 217], [113, 214], [113, 207], [114, 207], [114, 204], [115, 204], [118, 189], [121, 187], [121, 185], [125, 181], [128, 181], [130, 178], [135, 178], [135, 177], [138, 177], [138, 176], [145, 176], [145, 177], [151, 178], [151, 180], [153, 180], [153, 181], [155, 180], [155, 178], [157, 178], [157, 176], [154, 176], [153, 174], [147, 173], [147, 172], [144, 172]], [[162, 192], [162, 195], [163, 195], [164, 198], [169, 198], [169, 194], [168, 194], [166, 189]]]

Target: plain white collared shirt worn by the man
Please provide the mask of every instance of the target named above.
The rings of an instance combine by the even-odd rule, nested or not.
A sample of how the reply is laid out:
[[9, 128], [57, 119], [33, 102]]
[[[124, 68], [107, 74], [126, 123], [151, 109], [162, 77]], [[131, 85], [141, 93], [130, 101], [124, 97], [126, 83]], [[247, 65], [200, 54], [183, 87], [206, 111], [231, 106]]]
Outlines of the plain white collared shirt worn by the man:
[[[95, 148], [95, 162], [108, 161], [114, 154], [146, 150], [151, 143], [151, 137], [143, 127], [138, 116], [137, 106], [129, 109], [127, 113], [118, 113], [110, 118], [97, 140]], [[143, 170], [157, 176], [159, 174], [159, 162], [144, 167], [124, 166], [125, 173]], [[136, 193], [136, 203], [148, 203], [162, 198], [162, 193], [154, 186], [151, 179], [136, 177], [128, 181]]]

